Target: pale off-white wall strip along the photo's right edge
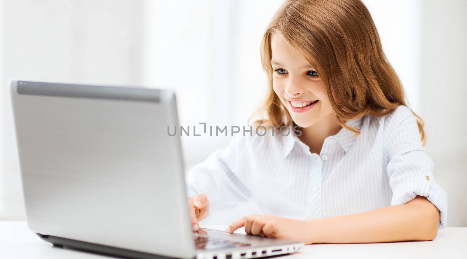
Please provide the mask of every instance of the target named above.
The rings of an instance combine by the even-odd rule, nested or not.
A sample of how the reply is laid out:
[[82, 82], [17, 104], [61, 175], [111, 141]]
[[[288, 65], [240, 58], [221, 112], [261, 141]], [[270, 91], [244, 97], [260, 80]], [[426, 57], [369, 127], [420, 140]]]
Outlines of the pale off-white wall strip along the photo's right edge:
[[448, 197], [448, 226], [467, 226], [467, 1], [421, 4], [420, 115]]

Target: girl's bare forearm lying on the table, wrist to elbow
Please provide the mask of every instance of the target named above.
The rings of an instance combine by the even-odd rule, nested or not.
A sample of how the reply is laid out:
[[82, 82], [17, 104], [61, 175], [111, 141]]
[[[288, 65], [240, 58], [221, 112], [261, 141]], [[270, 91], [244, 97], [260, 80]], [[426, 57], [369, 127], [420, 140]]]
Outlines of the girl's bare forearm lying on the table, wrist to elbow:
[[438, 233], [438, 222], [436, 206], [417, 196], [403, 205], [307, 221], [307, 244], [432, 240]]

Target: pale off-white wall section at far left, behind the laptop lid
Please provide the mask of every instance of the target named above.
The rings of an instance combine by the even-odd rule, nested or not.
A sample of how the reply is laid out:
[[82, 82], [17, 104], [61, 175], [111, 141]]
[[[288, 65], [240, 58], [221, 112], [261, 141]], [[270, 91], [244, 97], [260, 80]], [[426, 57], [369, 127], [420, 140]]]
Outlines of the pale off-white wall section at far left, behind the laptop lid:
[[7, 81], [141, 84], [143, 5], [133, 0], [2, 3], [0, 219], [24, 219]]

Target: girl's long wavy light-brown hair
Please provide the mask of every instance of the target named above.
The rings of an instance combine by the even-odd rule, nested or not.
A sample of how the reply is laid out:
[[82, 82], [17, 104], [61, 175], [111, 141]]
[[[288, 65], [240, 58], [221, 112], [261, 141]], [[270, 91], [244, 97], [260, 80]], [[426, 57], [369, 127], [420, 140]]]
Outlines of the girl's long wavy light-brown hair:
[[[375, 23], [361, 0], [286, 0], [274, 14], [261, 42], [261, 61], [268, 77], [268, 93], [257, 114], [256, 126], [289, 126], [290, 113], [272, 87], [271, 35], [280, 33], [292, 49], [313, 66], [325, 86], [342, 127], [367, 114], [384, 116], [406, 105], [396, 71], [389, 64]], [[408, 105], [406, 105], [408, 106]], [[424, 121], [417, 119], [422, 144]]]

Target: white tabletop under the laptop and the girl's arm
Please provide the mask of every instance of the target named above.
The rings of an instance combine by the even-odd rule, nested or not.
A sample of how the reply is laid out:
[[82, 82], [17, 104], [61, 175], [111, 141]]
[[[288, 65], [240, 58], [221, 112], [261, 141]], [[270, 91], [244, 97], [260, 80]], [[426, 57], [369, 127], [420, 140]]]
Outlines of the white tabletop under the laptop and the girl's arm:
[[[226, 225], [201, 227], [224, 230]], [[243, 229], [235, 232], [241, 232]], [[70, 248], [58, 248], [41, 240], [23, 221], [0, 221], [0, 258], [30, 259], [102, 259], [113, 258]], [[243, 233], [245, 233], [243, 231]], [[467, 228], [453, 227], [438, 231], [432, 241], [378, 244], [305, 245], [298, 252], [279, 258], [467, 258]]]

